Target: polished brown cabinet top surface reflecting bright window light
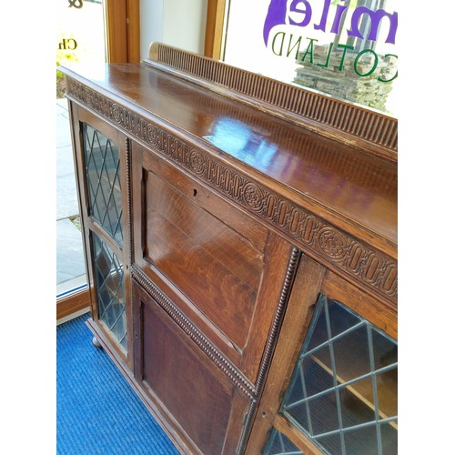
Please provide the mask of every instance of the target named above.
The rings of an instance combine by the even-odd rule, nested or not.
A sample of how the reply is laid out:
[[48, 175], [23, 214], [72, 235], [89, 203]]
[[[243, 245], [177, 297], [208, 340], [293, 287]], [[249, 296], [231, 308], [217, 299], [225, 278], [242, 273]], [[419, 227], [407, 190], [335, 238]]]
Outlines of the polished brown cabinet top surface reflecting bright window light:
[[[207, 90], [152, 62], [61, 69], [69, 97], [87, 108], [103, 114], [101, 105], [111, 103], [112, 110], [114, 103], [123, 109], [123, 122], [130, 113], [189, 139], [218, 162], [396, 258], [396, 162]], [[116, 113], [107, 117], [122, 124]]]

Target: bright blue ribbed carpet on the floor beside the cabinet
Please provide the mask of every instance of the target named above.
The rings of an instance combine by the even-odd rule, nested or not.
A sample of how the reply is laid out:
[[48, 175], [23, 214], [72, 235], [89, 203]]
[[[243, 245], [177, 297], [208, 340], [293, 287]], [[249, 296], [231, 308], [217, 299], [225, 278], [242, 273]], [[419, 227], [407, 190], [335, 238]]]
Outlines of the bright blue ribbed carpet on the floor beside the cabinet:
[[57, 454], [177, 454], [103, 349], [88, 315], [56, 329]]

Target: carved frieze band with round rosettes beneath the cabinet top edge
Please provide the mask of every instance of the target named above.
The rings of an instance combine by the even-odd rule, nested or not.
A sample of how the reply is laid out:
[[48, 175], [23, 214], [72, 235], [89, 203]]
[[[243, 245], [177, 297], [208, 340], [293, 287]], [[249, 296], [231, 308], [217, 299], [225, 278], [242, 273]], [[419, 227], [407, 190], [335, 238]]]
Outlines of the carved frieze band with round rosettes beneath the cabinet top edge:
[[267, 222], [309, 256], [339, 270], [345, 277], [367, 286], [373, 294], [386, 297], [393, 306], [396, 305], [398, 266], [394, 258], [370, 248], [248, 175], [227, 167], [205, 150], [171, 134], [165, 127], [157, 126], [72, 77], [67, 77], [67, 96], [94, 110], [126, 134], [134, 136]]

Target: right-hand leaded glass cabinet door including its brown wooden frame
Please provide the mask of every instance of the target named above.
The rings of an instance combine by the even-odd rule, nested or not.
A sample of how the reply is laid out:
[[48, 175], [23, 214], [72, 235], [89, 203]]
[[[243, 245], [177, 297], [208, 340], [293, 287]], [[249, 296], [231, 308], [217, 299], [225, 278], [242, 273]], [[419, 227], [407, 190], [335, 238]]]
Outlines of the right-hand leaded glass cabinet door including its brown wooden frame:
[[397, 313], [302, 257], [248, 450], [398, 451]]

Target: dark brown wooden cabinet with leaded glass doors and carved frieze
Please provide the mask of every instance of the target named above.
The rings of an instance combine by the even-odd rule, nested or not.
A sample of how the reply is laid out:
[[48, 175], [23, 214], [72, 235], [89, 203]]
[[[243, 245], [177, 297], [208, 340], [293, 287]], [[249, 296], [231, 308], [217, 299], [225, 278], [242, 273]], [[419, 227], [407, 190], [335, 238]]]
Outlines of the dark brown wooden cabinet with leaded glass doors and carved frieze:
[[153, 49], [63, 68], [97, 342], [182, 453], [393, 453], [396, 125]]

